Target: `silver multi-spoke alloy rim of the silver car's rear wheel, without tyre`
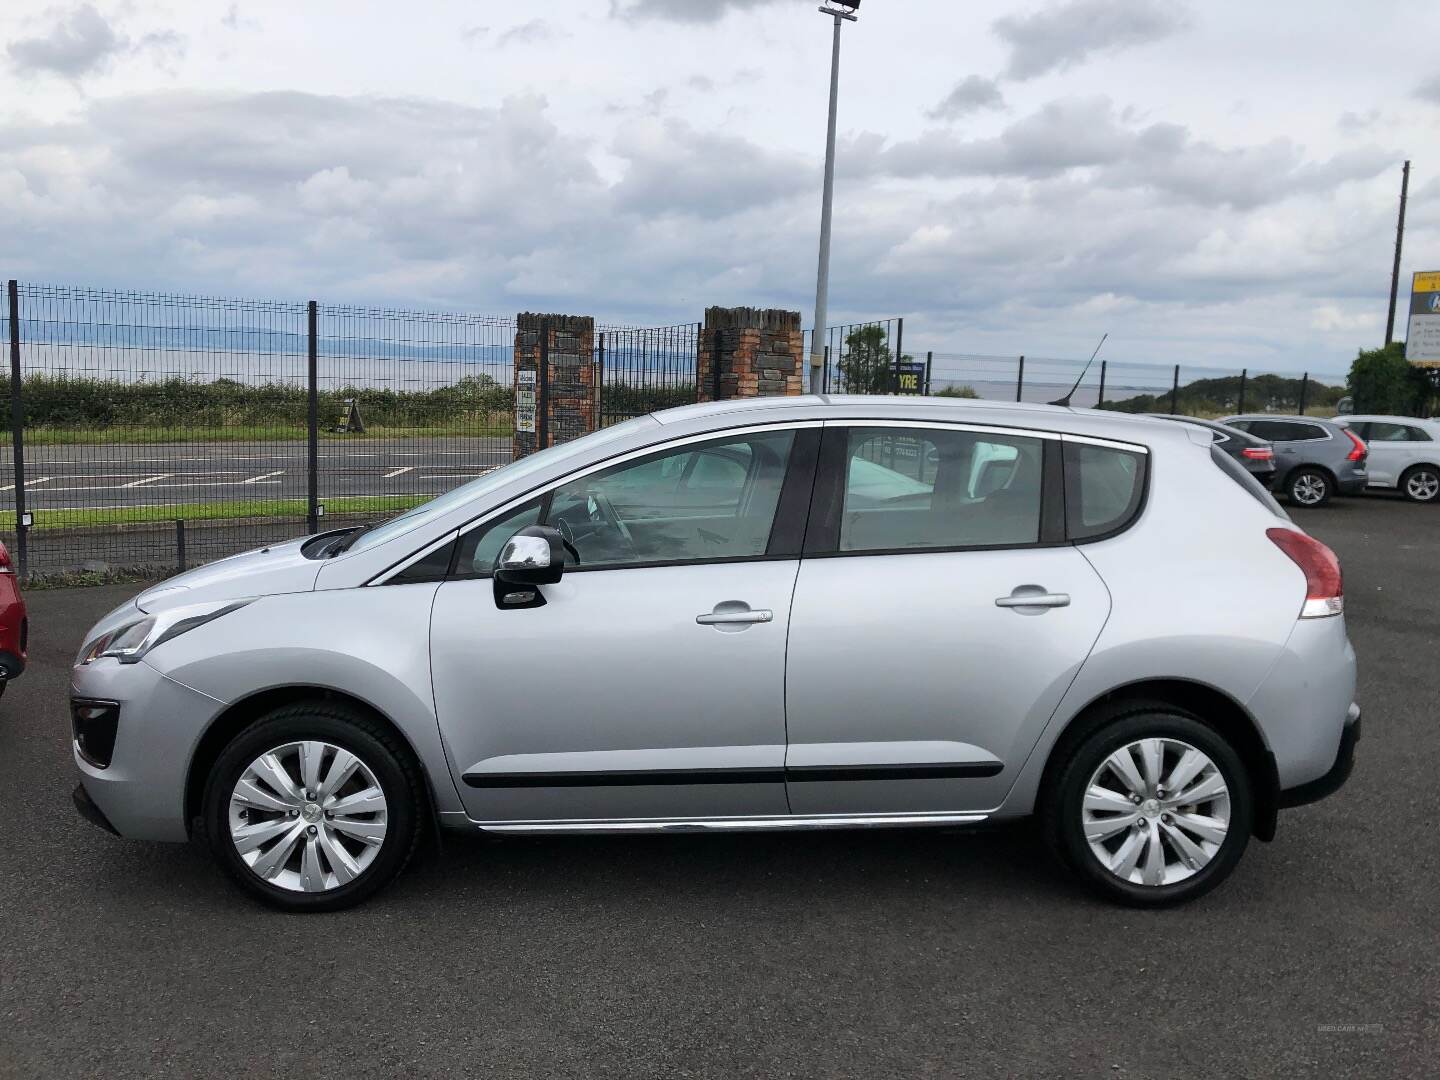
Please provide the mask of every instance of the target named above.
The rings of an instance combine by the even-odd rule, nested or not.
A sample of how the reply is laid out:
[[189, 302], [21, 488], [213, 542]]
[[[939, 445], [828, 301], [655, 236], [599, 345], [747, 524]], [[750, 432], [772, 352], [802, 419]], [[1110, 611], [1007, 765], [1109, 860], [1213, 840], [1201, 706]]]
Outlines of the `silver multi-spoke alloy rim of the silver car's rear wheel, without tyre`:
[[1218, 766], [1179, 739], [1128, 743], [1090, 775], [1081, 827], [1115, 877], [1171, 886], [1204, 870], [1230, 832], [1230, 788]]

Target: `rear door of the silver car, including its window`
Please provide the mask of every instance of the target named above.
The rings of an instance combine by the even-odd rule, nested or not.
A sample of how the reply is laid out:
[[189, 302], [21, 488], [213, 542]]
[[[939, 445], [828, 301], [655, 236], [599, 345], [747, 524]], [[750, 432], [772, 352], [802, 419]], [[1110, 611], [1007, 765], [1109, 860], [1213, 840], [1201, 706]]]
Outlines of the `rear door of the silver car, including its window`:
[[[1060, 541], [1058, 482], [1053, 438], [827, 428], [791, 612], [792, 812], [1001, 802], [1109, 615]], [[1094, 514], [1138, 482], [1094, 475]]]

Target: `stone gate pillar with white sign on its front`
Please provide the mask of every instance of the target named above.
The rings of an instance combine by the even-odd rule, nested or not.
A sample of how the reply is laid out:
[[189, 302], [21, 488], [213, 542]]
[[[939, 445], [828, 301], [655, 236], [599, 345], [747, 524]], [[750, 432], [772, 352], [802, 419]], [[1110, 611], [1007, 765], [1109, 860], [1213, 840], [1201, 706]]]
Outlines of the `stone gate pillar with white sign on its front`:
[[595, 320], [517, 315], [514, 456], [577, 439], [598, 426]]

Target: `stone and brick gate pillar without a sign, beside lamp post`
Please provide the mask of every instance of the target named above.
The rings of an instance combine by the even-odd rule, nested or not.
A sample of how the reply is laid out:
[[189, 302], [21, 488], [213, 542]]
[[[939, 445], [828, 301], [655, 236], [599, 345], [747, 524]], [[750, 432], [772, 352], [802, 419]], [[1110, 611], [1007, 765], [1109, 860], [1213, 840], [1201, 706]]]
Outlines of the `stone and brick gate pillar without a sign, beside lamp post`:
[[696, 397], [714, 402], [805, 393], [804, 350], [799, 311], [706, 308]]

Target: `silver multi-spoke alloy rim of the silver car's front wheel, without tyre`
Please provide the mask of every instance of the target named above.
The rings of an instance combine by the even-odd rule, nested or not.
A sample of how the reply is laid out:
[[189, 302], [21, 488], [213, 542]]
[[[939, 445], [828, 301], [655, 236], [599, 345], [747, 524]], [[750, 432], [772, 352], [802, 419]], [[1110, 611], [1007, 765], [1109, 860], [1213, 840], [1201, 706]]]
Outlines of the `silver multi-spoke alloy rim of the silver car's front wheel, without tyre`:
[[354, 881], [384, 844], [387, 805], [374, 772], [334, 743], [285, 743], [235, 782], [230, 842], [256, 877], [295, 893]]

